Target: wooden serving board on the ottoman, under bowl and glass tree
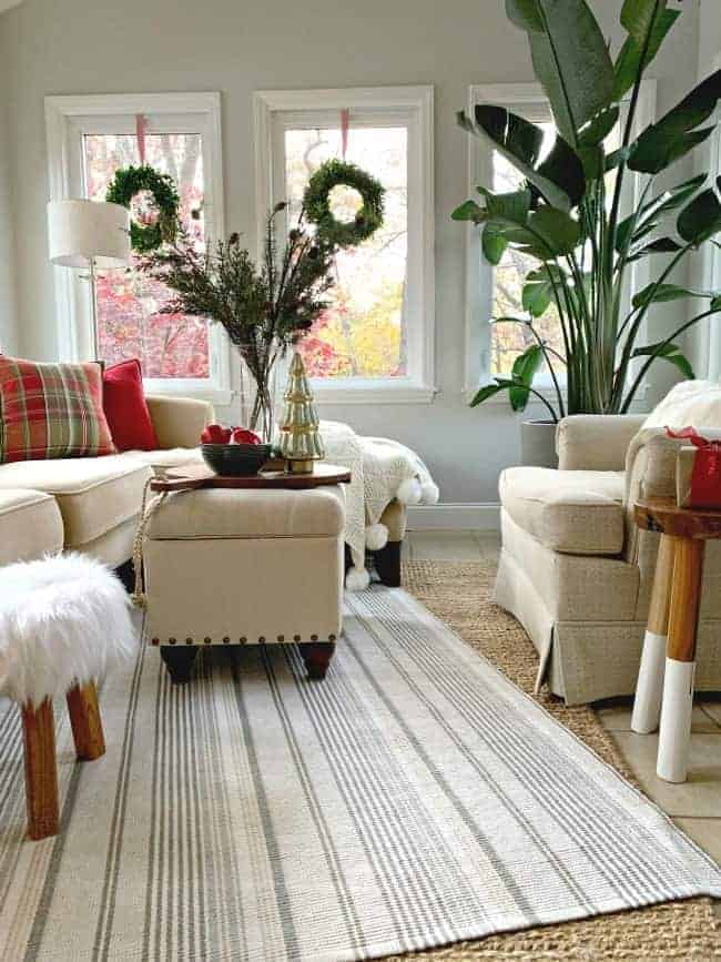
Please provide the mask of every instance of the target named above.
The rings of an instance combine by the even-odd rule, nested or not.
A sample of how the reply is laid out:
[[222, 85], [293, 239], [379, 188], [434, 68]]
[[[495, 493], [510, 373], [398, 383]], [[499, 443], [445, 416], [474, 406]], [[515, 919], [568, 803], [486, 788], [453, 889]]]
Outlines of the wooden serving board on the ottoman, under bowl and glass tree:
[[351, 472], [335, 464], [323, 462], [314, 466], [313, 474], [290, 474], [285, 470], [261, 470], [243, 477], [214, 474], [204, 464], [167, 468], [162, 477], [154, 477], [151, 490], [160, 493], [199, 490], [200, 488], [287, 488], [304, 490], [322, 485], [349, 484]]

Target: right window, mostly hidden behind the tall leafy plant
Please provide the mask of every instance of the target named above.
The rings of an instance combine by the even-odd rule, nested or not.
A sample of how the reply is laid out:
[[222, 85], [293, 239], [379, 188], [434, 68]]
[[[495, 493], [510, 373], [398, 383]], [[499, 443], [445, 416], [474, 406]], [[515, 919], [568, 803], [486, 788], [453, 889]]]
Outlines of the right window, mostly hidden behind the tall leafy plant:
[[[654, 82], [646, 81], [636, 120], [639, 130], [652, 120], [654, 94]], [[507, 107], [514, 113], [541, 126], [548, 138], [555, 132], [550, 107], [539, 84], [508, 83], [471, 87], [469, 97], [471, 115], [476, 103], [497, 103]], [[621, 111], [620, 123], [622, 122], [623, 111]], [[620, 136], [620, 126], [612, 132], [611, 140], [613, 136], [617, 139]], [[502, 154], [476, 138], [468, 140], [469, 196], [475, 194], [477, 184], [491, 183], [492, 190], [497, 192], [512, 191], [520, 185], [522, 176]], [[632, 204], [639, 186], [638, 179], [627, 181], [626, 204]], [[518, 251], [507, 250], [500, 264], [492, 267], [483, 257], [479, 232], [474, 227], [469, 227], [467, 251], [466, 387], [469, 394], [475, 394], [479, 383], [496, 375], [508, 375], [516, 357], [530, 346], [534, 340], [532, 334], [521, 325], [487, 322], [490, 317], [524, 315], [520, 301], [522, 282], [528, 271], [537, 267], [538, 263]], [[636, 290], [644, 285], [642, 273], [647, 270], [646, 264], [634, 269]], [[542, 317], [536, 320], [535, 327], [550, 347], [562, 355], [563, 343], [555, 305], [551, 305]], [[559, 367], [557, 373], [562, 375]], [[544, 368], [539, 373], [537, 384], [541, 387], [550, 387], [550, 375]]]

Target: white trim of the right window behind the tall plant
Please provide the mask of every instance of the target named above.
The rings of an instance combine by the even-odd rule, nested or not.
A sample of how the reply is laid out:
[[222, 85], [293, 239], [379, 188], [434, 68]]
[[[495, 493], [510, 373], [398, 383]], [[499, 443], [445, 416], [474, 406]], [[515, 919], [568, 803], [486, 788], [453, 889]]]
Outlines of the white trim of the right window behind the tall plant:
[[[640, 132], [656, 119], [656, 80], [643, 80], [638, 101], [634, 131]], [[630, 99], [630, 95], [624, 100]], [[468, 88], [468, 115], [475, 113], [477, 103], [494, 103], [512, 110], [518, 104], [548, 103], [548, 98], [540, 83], [494, 83], [471, 84]], [[476, 194], [478, 184], [492, 182], [492, 148], [485, 149], [475, 136], [468, 136], [468, 194]], [[633, 200], [640, 196], [642, 181], [640, 175], [633, 179]], [[640, 261], [632, 267], [632, 286], [639, 291], [650, 281], [650, 265]], [[466, 365], [465, 395], [468, 401], [475, 396], [478, 387], [491, 379], [490, 374], [490, 324], [483, 324], [483, 317], [492, 314], [494, 269], [483, 256], [480, 232], [469, 223], [466, 232]], [[556, 398], [550, 375], [539, 378], [539, 393], [549, 401]], [[639, 392], [639, 397], [646, 388]], [[561, 388], [561, 394], [566, 394]], [[505, 394], [489, 398], [491, 404], [508, 404]]]

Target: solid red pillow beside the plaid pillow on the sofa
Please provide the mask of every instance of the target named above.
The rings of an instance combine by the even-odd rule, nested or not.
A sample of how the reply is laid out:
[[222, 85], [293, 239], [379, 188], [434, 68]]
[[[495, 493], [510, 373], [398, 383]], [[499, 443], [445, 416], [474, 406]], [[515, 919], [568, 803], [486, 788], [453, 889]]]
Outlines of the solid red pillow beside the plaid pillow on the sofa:
[[118, 450], [158, 450], [138, 358], [103, 371], [103, 408]]

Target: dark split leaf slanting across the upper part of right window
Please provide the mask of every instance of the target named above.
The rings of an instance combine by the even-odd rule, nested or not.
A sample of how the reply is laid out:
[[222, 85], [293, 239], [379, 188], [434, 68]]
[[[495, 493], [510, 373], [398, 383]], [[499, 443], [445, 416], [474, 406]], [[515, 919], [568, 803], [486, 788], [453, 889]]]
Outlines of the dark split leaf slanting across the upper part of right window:
[[468, 133], [488, 139], [520, 173], [557, 207], [575, 206], [586, 191], [583, 166], [571, 148], [557, 136], [551, 150], [540, 126], [502, 107], [478, 104], [475, 123], [465, 113], [458, 123]]

